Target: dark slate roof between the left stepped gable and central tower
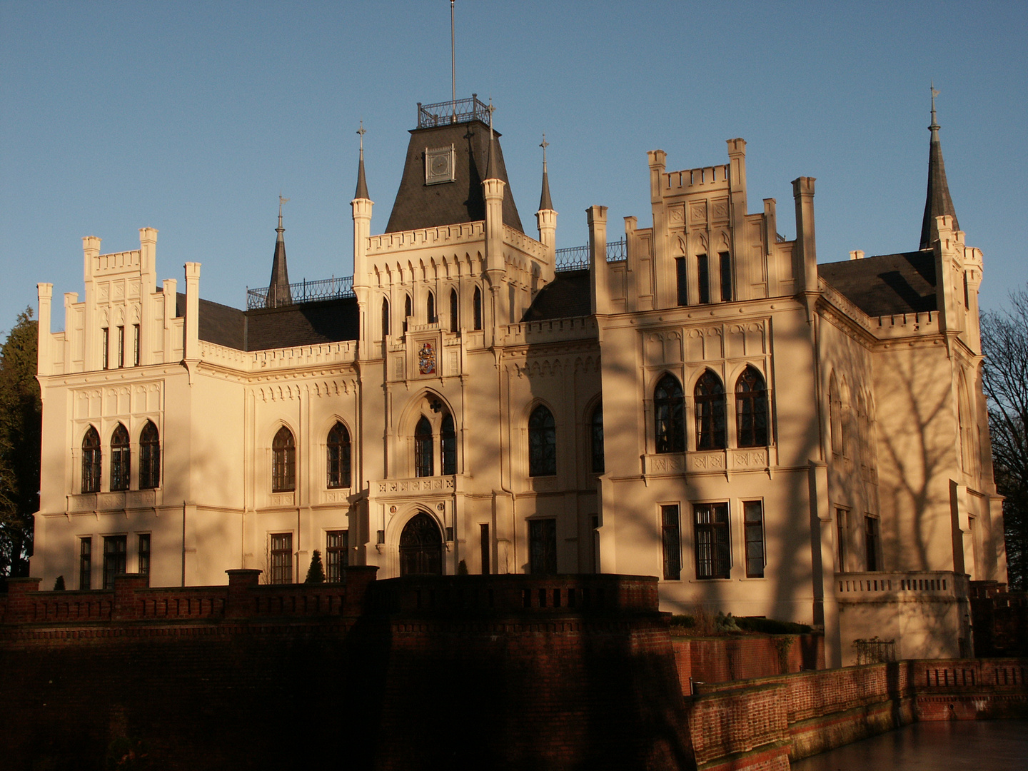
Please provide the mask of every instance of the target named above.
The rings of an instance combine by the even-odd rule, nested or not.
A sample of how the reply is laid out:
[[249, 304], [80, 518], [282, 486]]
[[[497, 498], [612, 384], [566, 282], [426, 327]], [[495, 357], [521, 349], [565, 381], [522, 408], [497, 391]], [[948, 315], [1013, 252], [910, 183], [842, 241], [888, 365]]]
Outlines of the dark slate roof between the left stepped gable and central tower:
[[[181, 317], [186, 296], [182, 292], [177, 295], [175, 314]], [[247, 311], [199, 301], [199, 339], [236, 351], [356, 340], [359, 331], [355, 297]]]

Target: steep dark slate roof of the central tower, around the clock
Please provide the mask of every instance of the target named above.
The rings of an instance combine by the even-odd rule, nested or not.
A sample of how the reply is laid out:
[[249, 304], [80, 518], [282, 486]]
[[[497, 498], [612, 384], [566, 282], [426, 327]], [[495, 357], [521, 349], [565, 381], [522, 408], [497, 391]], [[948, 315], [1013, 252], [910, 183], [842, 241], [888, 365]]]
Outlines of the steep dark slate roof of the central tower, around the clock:
[[[497, 138], [494, 142], [497, 178], [507, 183], [504, 192], [504, 224], [524, 232], [507, 179], [504, 151], [500, 147], [500, 134], [498, 132], [493, 134]], [[453, 145], [454, 149], [454, 181], [426, 185], [426, 148], [449, 145]], [[482, 180], [485, 178], [488, 161], [489, 126], [481, 120], [412, 130], [403, 167], [403, 178], [400, 180], [400, 189], [397, 190], [386, 232], [484, 220], [485, 199], [482, 197]]]

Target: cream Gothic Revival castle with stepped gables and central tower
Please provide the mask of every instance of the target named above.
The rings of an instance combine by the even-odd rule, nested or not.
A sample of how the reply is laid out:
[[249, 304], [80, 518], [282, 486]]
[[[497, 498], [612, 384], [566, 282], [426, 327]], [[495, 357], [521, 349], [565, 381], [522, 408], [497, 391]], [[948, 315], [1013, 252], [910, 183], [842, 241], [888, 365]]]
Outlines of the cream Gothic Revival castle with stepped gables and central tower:
[[[969, 580], [1005, 580], [981, 388], [982, 254], [964, 243], [934, 105], [916, 250], [818, 264], [814, 180], [750, 213], [746, 147], [667, 171], [652, 225], [537, 235], [491, 109], [418, 105], [384, 230], [363, 146], [352, 279], [271, 278], [241, 310], [199, 263], [157, 284], [83, 238], [84, 298], [39, 285], [44, 587], [302, 581], [313, 552], [401, 575], [657, 576], [661, 609], [823, 628], [904, 658], [969, 655]], [[363, 139], [363, 137], [362, 137]], [[544, 143], [545, 144], [545, 143]], [[545, 153], [545, 147], [544, 147]], [[913, 243], [911, 244], [913, 246]]]

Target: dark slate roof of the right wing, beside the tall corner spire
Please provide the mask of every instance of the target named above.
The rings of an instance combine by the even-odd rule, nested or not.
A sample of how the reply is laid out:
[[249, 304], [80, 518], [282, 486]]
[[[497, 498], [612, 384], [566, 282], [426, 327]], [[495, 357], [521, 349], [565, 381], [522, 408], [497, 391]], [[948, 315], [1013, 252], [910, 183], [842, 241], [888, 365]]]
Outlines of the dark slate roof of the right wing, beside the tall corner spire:
[[931, 251], [828, 262], [817, 266], [817, 274], [868, 316], [939, 309]]

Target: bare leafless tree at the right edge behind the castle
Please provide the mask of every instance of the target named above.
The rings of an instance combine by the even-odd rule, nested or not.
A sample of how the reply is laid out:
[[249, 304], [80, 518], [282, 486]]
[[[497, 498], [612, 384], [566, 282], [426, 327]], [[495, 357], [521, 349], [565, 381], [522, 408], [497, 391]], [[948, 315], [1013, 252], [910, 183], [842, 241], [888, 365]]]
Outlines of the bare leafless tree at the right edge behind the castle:
[[1028, 286], [1009, 295], [1006, 310], [982, 315], [982, 383], [1011, 587], [1028, 588]]

